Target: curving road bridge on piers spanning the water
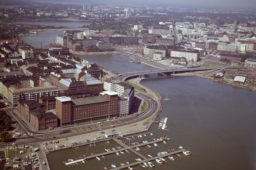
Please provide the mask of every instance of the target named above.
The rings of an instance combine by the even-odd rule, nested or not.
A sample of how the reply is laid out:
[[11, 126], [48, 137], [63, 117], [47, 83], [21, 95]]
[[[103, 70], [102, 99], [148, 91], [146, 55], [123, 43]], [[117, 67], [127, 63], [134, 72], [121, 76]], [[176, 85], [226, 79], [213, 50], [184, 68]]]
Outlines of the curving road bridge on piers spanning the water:
[[147, 70], [147, 71], [134, 71], [128, 72], [124, 74], [119, 74], [120, 76], [116, 77], [116, 80], [120, 80], [122, 82], [127, 81], [128, 79], [132, 79], [138, 77], [140, 75], [148, 76], [149, 74], [180, 74], [187, 72], [195, 72], [195, 71], [208, 71], [208, 70], [220, 70], [221, 68], [195, 68], [195, 67], [187, 67], [187, 68], [170, 68], [170, 69], [157, 69], [157, 70]]

